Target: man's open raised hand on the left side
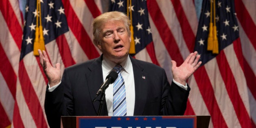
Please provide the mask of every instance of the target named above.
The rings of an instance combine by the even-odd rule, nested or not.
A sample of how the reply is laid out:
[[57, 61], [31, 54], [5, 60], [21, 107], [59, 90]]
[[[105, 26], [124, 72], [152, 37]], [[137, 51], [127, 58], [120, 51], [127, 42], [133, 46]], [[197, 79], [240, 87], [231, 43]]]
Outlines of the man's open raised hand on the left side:
[[59, 84], [61, 82], [61, 64], [56, 63], [55, 67], [50, 63], [46, 51], [38, 50], [40, 57], [40, 64], [43, 67], [43, 71], [46, 74], [50, 87]]

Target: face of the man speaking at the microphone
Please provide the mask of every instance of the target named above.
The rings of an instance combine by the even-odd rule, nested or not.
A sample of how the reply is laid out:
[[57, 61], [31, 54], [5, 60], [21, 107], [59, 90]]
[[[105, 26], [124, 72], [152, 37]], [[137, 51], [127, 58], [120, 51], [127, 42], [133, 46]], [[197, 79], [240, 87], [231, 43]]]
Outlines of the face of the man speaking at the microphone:
[[102, 25], [98, 48], [110, 61], [121, 63], [130, 50], [131, 38], [121, 21], [108, 21]]

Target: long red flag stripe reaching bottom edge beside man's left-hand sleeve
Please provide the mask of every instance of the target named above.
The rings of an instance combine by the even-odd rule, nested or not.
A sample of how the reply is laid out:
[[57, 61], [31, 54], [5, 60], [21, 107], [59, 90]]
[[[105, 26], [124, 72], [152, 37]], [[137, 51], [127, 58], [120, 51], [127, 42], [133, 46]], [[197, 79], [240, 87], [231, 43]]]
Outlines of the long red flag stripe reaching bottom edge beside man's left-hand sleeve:
[[43, 116], [43, 110], [37, 98], [37, 94], [35, 93], [35, 90], [33, 88], [33, 85], [28, 77], [23, 61], [24, 59], [20, 61], [19, 79], [26, 104], [28, 105], [28, 109], [33, 117], [33, 120], [35, 121], [36, 126], [38, 128], [47, 128], [48, 126]]

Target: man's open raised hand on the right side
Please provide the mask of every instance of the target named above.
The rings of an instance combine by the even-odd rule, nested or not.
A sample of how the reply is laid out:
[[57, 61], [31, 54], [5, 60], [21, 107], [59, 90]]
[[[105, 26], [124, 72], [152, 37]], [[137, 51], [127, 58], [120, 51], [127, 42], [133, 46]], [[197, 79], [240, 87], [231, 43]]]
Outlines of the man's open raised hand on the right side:
[[186, 85], [187, 79], [195, 72], [195, 70], [201, 65], [202, 61], [198, 62], [200, 55], [197, 52], [189, 54], [187, 59], [177, 67], [176, 61], [171, 61], [172, 67], [171, 72], [176, 82], [182, 85]]

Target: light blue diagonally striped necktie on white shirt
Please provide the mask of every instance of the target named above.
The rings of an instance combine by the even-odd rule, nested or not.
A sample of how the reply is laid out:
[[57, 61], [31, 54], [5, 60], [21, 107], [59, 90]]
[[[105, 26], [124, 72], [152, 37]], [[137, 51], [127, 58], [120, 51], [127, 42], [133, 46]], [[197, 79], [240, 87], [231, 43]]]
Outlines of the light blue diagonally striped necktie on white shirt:
[[114, 82], [113, 89], [113, 116], [126, 116], [126, 93], [124, 78], [121, 76], [121, 65], [116, 65], [118, 77]]

